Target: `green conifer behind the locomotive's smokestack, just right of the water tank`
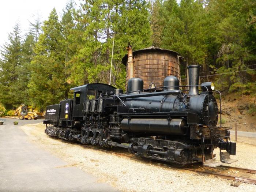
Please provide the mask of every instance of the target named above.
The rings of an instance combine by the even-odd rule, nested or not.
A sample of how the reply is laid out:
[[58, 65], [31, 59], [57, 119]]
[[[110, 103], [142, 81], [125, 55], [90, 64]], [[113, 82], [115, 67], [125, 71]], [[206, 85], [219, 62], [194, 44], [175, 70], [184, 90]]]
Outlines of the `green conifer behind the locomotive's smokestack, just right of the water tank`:
[[[169, 21], [163, 30], [163, 47], [172, 49], [184, 56], [187, 72], [191, 64], [205, 65], [206, 58], [206, 22], [205, 10], [199, 1], [181, 0], [177, 12], [170, 14]], [[188, 83], [188, 82], [187, 82]]]

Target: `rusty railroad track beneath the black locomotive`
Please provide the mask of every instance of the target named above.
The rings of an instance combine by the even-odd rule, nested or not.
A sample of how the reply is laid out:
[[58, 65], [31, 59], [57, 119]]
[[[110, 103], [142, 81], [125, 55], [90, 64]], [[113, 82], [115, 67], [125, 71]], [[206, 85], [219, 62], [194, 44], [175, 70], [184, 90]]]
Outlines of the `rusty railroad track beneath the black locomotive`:
[[[69, 141], [64, 141], [64, 142], [69, 142]], [[72, 142], [73, 143], [73, 142]], [[113, 150], [109, 150], [109, 149], [104, 149], [104, 148], [98, 148], [98, 147], [94, 147], [94, 146], [88, 146], [88, 145], [84, 145], [84, 144], [80, 144], [80, 143], [76, 143], [80, 146], [83, 146], [85, 148], [91, 148], [94, 150], [99, 150], [99, 151], [104, 151], [106, 153], [111, 153], [120, 157], [128, 157], [128, 158], [132, 158], [132, 159], [136, 159], [137, 161], [141, 158], [139, 158], [138, 156], [132, 155], [127, 153], [127, 151], [123, 150], [123, 149], [118, 149], [118, 151], [120, 151], [121, 153], [117, 153]], [[146, 158], [143, 158], [143, 160], [141, 159], [141, 161], [144, 161]], [[145, 162], [145, 161], [144, 161]], [[190, 167], [181, 167], [181, 168], [177, 168], [177, 167], [173, 167], [168, 163], [164, 163], [164, 162], [159, 162], [159, 161], [155, 161], [155, 160], [151, 160], [150, 159], [150, 163], [157, 165], [157, 166], [167, 166], [167, 167], [172, 167], [173, 169], [176, 170], [188, 170], [188, 171], [192, 171], [192, 172], [197, 172], [197, 173], [201, 173], [201, 174], [207, 174], [207, 175], [213, 175], [216, 177], [220, 177], [223, 179], [227, 179], [227, 180], [232, 180], [232, 181], [238, 181], [238, 182], [245, 182], [245, 183], [249, 183], [249, 184], [255, 184], [256, 185], [256, 170], [254, 169], [247, 169], [247, 168], [241, 168], [241, 167], [231, 167], [231, 166], [218, 166], [218, 167], [203, 167], [202, 165], [191, 165]], [[226, 174], [226, 173], [230, 173], [230, 172], [239, 172], [240, 176], [237, 176], [236, 174]], [[242, 173], [242, 175], [241, 175]], [[243, 173], [247, 173], [248, 175], [244, 176]], [[252, 176], [254, 176], [255, 178], [251, 178]]]

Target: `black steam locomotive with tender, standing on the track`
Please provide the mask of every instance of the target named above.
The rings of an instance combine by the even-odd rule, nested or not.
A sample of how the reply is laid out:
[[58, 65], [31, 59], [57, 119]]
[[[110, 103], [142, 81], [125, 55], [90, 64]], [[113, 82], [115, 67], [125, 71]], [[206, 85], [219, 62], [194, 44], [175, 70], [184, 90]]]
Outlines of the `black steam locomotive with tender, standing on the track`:
[[[74, 99], [47, 106], [45, 133], [93, 146], [126, 148], [176, 166], [234, 162], [230, 155], [236, 154], [236, 143], [230, 142], [229, 128], [216, 127], [214, 84], [198, 85], [198, 65], [188, 70], [189, 86], [179, 86], [175, 76], [168, 76], [163, 87], [146, 90], [142, 79], [129, 79], [126, 93], [102, 83], [74, 87]], [[182, 87], [189, 87], [189, 92]], [[217, 147], [222, 163], [214, 161]]]

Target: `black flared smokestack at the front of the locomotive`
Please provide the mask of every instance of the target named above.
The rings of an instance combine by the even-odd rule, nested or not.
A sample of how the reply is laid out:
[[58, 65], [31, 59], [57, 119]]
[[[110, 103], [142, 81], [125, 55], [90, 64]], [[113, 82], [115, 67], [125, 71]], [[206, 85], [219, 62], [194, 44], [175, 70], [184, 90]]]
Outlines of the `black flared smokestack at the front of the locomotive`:
[[[189, 65], [188, 66], [188, 78], [189, 78], [189, 86], [198, 85], [199, 84], [199, 65]], [[198, 87], [189, 87], [188, 95], [197, 95], [199, 94]]]

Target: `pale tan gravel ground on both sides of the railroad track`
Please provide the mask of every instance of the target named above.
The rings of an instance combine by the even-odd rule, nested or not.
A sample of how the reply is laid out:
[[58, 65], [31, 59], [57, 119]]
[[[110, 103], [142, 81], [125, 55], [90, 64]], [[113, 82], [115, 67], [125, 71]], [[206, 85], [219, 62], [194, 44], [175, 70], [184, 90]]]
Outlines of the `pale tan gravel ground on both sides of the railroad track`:
[[[45, 135], [41, 123], [24, 125], [20, 128], [29, 136], [30, 141], [40, 148], [50, 151], [68, 162], [70, 166], [77, 166], [96, 176], [99, 181], [107, 182], [121, 191], [256, 191], [256, 185], [237, 183], [240, 185], [233, 187], [233, 181], [215, 176], [174, 169], [162, 164], [156, 165], [146, 160], [120, 157], [53, 139]], [[238, 162], [233, 163], [232, 166], [256, 169], [256, 146], [238, 143], [235, 158]]]

